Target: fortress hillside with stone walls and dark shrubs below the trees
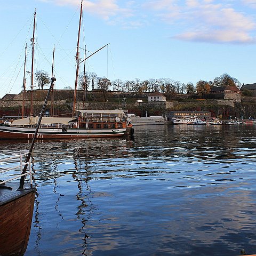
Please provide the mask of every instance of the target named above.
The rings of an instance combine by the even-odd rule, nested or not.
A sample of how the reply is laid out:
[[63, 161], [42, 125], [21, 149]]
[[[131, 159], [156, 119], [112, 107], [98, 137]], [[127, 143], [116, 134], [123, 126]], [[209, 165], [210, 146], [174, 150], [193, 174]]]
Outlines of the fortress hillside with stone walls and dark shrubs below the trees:
[[[48, 90], [34, 91], [34, 113], [39, 114]], [[30, 91], [26, 95], [25, 115], [29, 115]], [[139, 116], [164, 116], [168, 111], [211, 111], [212, 116], [222, 118], [249, 116], [256, 117], [256, 98], [242, 97], [241, 103], [225, 100], [202, 100], [188, 98], [188, 94], [177, 94], [174, 99], [164, 94], [166, 102], [148, 102], [148, 93], [135, 92], [102, 92], [99, 90], [86, 93], [87, 109], [125, 109]], [[0, 116], [20, 116], [22, 109], [22, 93], [15, 95], [13, 100], [0, 100]], [[73, 90], [56, 90], [53, 95], [54, 115], [70, 115], [73, 107]], [[83, 91], [77, 92], [77, 109], [83, 108]], [[170, 100], [169, 100], [170, 99]], [[143, 102], [137, 102], [142, 100]], [[51, 99], [47, 110], [51, 110]]]

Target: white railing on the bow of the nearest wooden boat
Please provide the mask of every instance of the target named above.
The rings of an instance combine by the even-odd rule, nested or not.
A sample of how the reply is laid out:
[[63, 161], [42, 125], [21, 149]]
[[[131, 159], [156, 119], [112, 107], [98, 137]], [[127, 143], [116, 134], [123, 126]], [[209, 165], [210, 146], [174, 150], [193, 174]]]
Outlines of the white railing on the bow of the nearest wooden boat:
[[[22, 176], [29, 175], [30, 178], [30, 185], [32, 184], [32, 171], [31, 171], [31, 161], [23, 162], [23, 158], [28, 155], [29, 151], [14, 151], [12, 152], [11, 157], [6, 157], [0, 159], [0, 173], [7, 173], [11, 172], [11, 174], [6, 174], [5, 180], [0, 180], [0, 185], [4, 185], [6, 182], [9, 182], [14, 179], [18, 179]], [[23, 171], [23, 167], [28, 165], [29, 168], [24, 174], [21, 174]], [[3, 166], [3, 167], [2, 167]], [[19, 174], [14, 174], [15, 171], [20, 171]], [[10, 178], [11, 177], [11, 178]]]

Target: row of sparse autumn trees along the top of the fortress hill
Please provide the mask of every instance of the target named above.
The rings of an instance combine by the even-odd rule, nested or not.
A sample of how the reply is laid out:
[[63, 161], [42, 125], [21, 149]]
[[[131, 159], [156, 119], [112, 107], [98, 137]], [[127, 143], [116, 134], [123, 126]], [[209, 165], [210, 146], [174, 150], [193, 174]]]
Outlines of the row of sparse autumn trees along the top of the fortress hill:
[[[44, 86], [50, 85], [51, 83], [49, 74], [43, 70], [38, 70], [35, 73], [35, 77], [39, 89], [43, 89]], [[236, 78], [226, 73], [222, 74], [220, 77], [215, 77], [213, 81], [199, 80], [196, 84], [191, 82], [185, 84], [171, 78], [150, 78], [146, 80], [135, 78], [131, 81], [122, 81], [121, 79], [110, 81], [106, 77], [98, 77], [97, 74], [91, 72], [79, 74], [78, 79], [79, 90], [87, 91], [91, 88], [91, 90], [98, 89], [105, 92], [161, 92], [168, 94], [169, 98], [174, 97], [175, 94], [197, 94], [198, 97], [204, 98], [206, 94], [210, 93], [212, 87], [221, 86], [237, 86], [240, 88], [241, 83]], [[64, 89], [71, 90], [72, 87], [67, 86]]]

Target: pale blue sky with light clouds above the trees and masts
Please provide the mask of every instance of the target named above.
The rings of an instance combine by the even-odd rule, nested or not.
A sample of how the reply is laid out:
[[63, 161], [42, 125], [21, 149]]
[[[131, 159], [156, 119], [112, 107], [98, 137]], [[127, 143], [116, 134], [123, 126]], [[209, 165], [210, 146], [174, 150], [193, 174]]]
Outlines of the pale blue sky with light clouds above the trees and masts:
[[[51, 74], [55, 47], [55, 88], [75, 87], [80, 6], [81, 0], [0, 0], [0, 98], [22, 90], [26, 44], [30, 90], [35, 9], [34, 70]], [[85, 69], [110, 81], [196, 84], [227, 73], [242, 84], [256, 83], [255, 13], [256, 0], [84, 0], [80, 58], [85, 48], [89, 56], [108, 44]]]

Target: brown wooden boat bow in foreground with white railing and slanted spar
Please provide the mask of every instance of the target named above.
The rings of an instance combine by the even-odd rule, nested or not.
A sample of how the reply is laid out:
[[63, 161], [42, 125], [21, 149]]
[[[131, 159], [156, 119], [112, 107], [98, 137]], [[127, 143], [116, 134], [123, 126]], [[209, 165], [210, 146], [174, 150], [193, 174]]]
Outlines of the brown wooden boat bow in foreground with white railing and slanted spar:
[[[21, 256], [27, 249], [35, 201], [35, 188], [32, 185], [30, 156], [54, 80], [55, 79], [52, 78], [52, 83], [45, 99], [29, 151], [20, 151], [18, 154], [14, 152], [12, 156], [0, 159], [0, 173], [5, 174], [5, 180], [0, 181], [1, 256]], [[23, 162], [22, 159], [25, 156], [26, 161]], [[29, 169], [27, 170], [28, 166]], [[18, 171], [20, 170], [20, 174], [10, 174], [10, 172], [17, 171], [17, 169]], [[26, 175], [30, 176], [30, 184], [25, 183]], [[20, 178], [20, 182], [15, 182], [18, 178]]]

